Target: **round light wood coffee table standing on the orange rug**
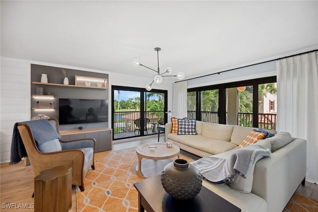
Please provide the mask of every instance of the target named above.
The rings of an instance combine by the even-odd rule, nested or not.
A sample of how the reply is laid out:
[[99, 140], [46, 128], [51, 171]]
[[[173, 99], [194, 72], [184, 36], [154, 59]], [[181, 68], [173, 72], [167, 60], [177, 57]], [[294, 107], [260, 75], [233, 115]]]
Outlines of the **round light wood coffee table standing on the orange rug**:
[[[152, 146], [153, 145], [153, 146]], [[151, 147], [154, 151], [151, 151]], [[165, 143], [146, 143], [136, 149], [138, 165], [136, 166], [137, 175], [141, 178], [149, 178], [160, 174], [163, 167], [172, 162], [171, 158], [180, 158], [180, 148], [172, 145], [167, 148]], [[142, 159], [145, 158], [146, 160]]]

